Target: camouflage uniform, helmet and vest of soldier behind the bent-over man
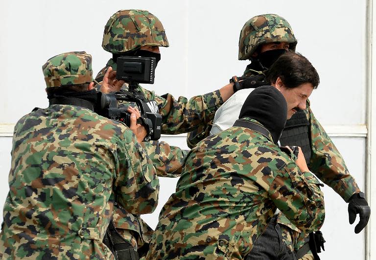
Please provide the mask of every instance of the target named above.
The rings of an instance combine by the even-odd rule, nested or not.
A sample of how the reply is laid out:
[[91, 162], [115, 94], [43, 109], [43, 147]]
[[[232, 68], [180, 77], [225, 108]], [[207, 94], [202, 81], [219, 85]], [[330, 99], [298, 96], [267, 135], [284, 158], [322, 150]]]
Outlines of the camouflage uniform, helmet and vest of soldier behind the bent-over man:
[[[274, 17], [274, 18], [273, 18]], [[268, 25], [265, 25], [267, 23]], [[268, 34], [268, 31], [274, 34]], [[253, 42], [252, 40], [253, 39]], [[239, 39], [239, 60], [246, 60], [259, 45], [267, 42], [287, 42], [289, 48], [295, 50], [297, 41], [291, 26], [276, 15], [261, 15], [250, 19], [243, 27]], [[251, 46], [253, 45], [253, 46]], [[257, 77], [262, 81], [263, 71], [258, 71], [256, 61], [247, 66], [243, 76]], [[295, 139], [292, 141], [292, 139]], [[315, 175], [334, 189], [346, 202], [352, 194], [360, 192], [354, 178], [350, 175], [346, 164], [330, 140], [328, 134], [314, 117], [310, 103], [307, 101], [306, 109], [298, 111], [286, 122], [286, 129], [280, 139], [282, 145], [299, 145], [305, 154], [309, 169]], [[295, 227], [285, 216], [279, 214], [277, 222], [282, 230], [282, 237], [290, 250], [297, 252], [307, 241], [306, 234]], [[305, 259], [312, 259], [309, 252]]]

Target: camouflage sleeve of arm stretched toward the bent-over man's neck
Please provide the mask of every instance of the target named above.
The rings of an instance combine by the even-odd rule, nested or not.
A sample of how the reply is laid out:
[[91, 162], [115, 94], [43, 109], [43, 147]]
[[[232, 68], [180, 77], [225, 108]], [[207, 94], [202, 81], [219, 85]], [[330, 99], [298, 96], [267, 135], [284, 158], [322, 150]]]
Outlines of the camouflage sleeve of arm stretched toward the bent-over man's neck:
[[197, 95], [189, 100], [180, 96], [178, 100], [170, 94], [155, 95], [159, 113], [163, 118], [163, 134], [188, 133], [201, 124], [208, 124], [215, 115], [215, 111], [223, 104], [219, 90]]

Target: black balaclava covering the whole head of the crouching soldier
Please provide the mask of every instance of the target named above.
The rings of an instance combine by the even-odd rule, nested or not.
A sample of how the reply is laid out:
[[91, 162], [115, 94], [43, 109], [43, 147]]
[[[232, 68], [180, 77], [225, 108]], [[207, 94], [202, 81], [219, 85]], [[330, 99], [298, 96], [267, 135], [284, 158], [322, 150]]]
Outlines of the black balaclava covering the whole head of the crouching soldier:
[[286, 100], [275, 87], [258, 87], [248, 95], [239, 118], [257, 120], [270, 132], [273, 142], [277, 144], [286, 123]]

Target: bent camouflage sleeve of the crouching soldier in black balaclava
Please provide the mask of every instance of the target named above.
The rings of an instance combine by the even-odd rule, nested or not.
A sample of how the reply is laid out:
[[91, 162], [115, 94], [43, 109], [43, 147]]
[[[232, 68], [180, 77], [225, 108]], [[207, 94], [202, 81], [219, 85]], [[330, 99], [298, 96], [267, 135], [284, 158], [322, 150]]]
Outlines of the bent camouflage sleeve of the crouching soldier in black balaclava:
[[318, 230], [324, 222], [324, 196], [319, 181], [289, 163], [276, 175], [269, 196], [278, 209], [302, 232]]

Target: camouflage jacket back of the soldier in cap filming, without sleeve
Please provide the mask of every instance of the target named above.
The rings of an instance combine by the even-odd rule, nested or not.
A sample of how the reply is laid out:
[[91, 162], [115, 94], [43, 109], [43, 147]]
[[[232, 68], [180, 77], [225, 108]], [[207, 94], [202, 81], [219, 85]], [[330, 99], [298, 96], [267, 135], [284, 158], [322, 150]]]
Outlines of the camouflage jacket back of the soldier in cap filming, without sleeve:
[[69, 105], [18, 121], [0, 241], [4, 257], [113, 259], [101, 239], [125, 130]]

